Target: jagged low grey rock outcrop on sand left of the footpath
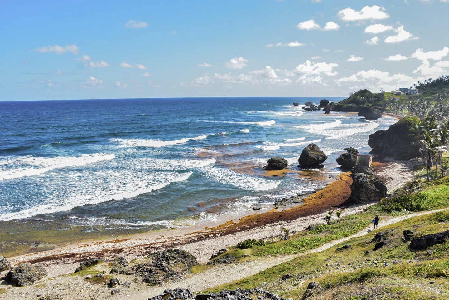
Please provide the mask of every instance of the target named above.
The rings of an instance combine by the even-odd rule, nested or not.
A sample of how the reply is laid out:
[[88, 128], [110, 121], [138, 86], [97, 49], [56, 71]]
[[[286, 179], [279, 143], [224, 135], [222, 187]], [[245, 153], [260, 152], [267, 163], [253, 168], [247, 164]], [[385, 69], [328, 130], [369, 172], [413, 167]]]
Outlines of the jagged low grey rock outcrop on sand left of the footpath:
[[161, 284], [170, 279], [181, 278], [198, 264], [194, 255], [179, 249], [151, 253], [147, 261], [127, 269], [128, 275], [138, 276], [143, 282]]

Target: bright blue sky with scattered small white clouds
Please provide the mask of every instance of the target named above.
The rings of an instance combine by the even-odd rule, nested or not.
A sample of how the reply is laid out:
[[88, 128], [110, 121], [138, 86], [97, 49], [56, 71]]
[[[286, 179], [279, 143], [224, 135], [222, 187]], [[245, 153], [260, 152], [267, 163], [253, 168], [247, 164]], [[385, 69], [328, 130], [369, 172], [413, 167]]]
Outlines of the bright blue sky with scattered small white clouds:
[[448, 13], [449, 0], [0, 0], [0, 101], [391, 91], [449, 75]]

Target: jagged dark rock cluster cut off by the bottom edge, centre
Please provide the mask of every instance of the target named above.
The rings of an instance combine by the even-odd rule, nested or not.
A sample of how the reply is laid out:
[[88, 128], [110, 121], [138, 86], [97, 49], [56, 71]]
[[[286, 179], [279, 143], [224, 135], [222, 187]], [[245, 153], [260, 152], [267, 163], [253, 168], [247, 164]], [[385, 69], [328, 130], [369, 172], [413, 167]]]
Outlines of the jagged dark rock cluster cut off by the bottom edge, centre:
[[148, 300], [284, 300], [283, 298], [263, 289], [223, 290], [219, 293], [194, 295], [189, 289], [177, 288], [165, 290], [162, 294], [148, 298]]

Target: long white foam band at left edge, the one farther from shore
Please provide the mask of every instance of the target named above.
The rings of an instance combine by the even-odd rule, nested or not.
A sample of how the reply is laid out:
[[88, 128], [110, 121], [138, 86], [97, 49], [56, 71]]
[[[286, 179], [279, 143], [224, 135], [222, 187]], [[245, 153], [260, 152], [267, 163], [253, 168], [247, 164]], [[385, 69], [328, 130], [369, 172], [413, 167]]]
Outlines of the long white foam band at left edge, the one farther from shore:
[[[33, 176], [69, 166], [84, 166], [97, 161], [114, 159], [114, 154], [86, 154], [73, 157], [11, 157], [0, 161], [0, 180]], [[10, 166], [17, 166], [11, 169]]]

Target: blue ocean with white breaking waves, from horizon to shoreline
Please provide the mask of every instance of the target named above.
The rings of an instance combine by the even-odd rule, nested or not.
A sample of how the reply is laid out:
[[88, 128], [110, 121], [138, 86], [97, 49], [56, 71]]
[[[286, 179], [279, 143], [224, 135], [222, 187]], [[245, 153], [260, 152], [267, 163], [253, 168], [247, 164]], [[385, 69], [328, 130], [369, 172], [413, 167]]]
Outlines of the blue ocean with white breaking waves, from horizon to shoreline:
[[[0, 221], [170, 226], [267, 210], [322, 188], [344, 148], [369, 152], [368, 135], [395, 122], [292, 107], [319, 99], [0, 102]], [[324, 169], [297, 167], [310, 142], [329, 155]], [[262, 170], [273, 156], [288, 173]]]

